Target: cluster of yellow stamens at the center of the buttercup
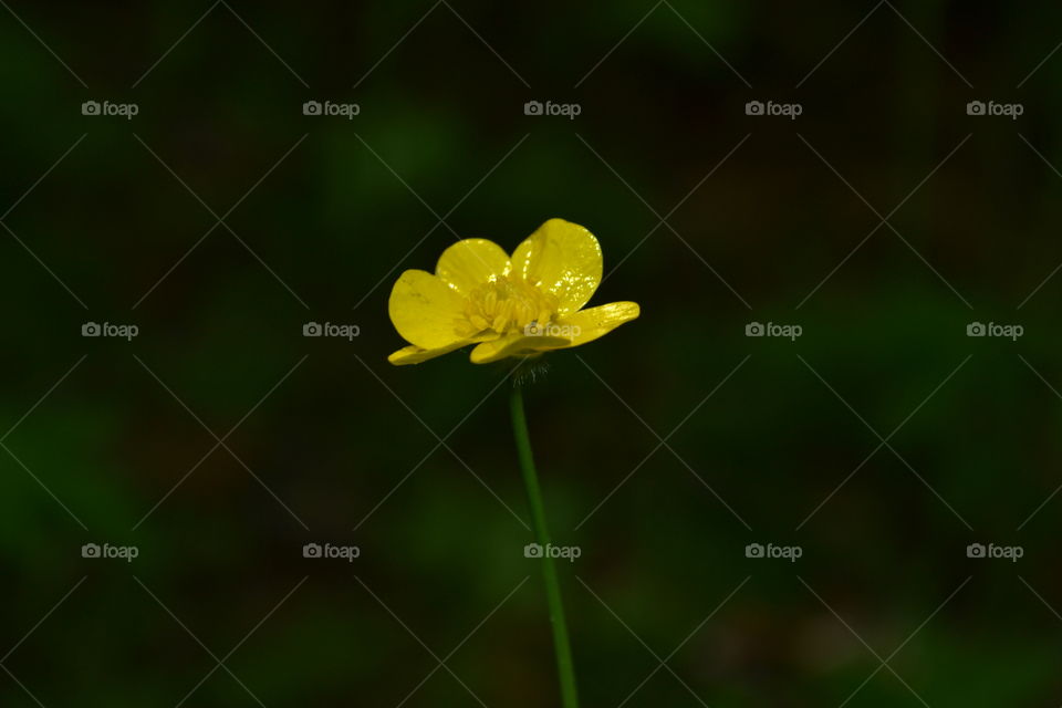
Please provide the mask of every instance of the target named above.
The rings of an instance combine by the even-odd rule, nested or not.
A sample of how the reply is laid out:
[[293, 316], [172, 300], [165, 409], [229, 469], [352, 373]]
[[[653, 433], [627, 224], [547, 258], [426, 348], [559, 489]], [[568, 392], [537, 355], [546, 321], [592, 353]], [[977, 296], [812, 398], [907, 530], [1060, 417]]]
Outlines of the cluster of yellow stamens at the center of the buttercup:
[[522, 331], [532, 323], [545, 325], [558, 304], [556, 295], [514, 274], [500, 275], [469, 293], [457, 331], [461, 336], [473, 336], [485, 330], [507, 334]]

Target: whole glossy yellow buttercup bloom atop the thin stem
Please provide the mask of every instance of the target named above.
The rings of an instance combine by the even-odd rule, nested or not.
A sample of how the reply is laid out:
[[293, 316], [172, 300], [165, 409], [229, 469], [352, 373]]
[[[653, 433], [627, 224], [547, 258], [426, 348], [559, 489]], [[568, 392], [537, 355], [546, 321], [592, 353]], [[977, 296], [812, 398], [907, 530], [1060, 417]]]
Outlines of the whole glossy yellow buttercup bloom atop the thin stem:
[[391, 291], [391, 321], [412, 346], [392, 364], [419, 364], [476, 344], [473, 364], [533, 356], [593, 342], [638, 316], [635, 302], [581, 310], [601, 283], [594, 235], [550, 219], [512, 257], [487, 239], [465, 239], [439, 257], [435, 274], [407, 270]]

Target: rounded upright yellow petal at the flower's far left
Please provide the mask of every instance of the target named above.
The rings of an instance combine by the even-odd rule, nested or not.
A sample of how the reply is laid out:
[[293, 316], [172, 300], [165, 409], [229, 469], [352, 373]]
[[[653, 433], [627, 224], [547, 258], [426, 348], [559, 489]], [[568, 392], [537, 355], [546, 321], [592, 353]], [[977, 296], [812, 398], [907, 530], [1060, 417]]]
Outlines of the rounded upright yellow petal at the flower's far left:
[[465, 299], [423, 270], [407, 270], [391, 291], [388, 312], [402, 339], [420, 348], [435, 350], [464, 340], [455, 323]]

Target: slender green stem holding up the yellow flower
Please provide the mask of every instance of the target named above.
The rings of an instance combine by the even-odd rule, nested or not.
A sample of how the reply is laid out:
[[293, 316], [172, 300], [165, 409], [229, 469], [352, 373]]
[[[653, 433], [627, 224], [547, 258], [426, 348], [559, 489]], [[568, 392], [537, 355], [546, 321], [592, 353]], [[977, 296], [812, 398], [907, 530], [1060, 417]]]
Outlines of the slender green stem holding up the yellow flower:
[[561, 585], [556, 579], [553, 559], [546, 552], [550, 532], [545, 525], [542, 492], [539, 489], [539, 476], [534, 471], [534, 457], [531, 454], [531, 436], [528, 435], [528, 420], [523, 414], [523, 389], [519, 383], [512, 387], [509, 408], [512, 413], [512, 431], [517, 438], [520, 470], [523, 472], [523, 485], [527, 487], [528, 503], [531, 507], [531, 525], [534, 528], [535, 540], [542, 546], [542, 579], [545, 581], [545, 601], [550, 608], [550, 624], [553, 626], [553, 648], [556, 653], [556, 671], [561, 680], [561, 705], [564, 708], [579, 708], [572, 647], [568, 641], [564, 605], [561, 603]]

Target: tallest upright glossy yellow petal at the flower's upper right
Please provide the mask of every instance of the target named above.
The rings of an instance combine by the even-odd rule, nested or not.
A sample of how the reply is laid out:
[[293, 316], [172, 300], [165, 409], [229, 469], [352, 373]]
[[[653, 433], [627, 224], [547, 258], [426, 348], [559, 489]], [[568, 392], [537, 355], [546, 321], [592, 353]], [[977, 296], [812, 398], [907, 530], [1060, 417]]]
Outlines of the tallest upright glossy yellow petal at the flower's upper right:
[[586, 304], [601, 283], [601, 246], [577, 223], [550, 219], [517, 247], [512, 269], [556, 295], [559, 314], [570, 314]]

